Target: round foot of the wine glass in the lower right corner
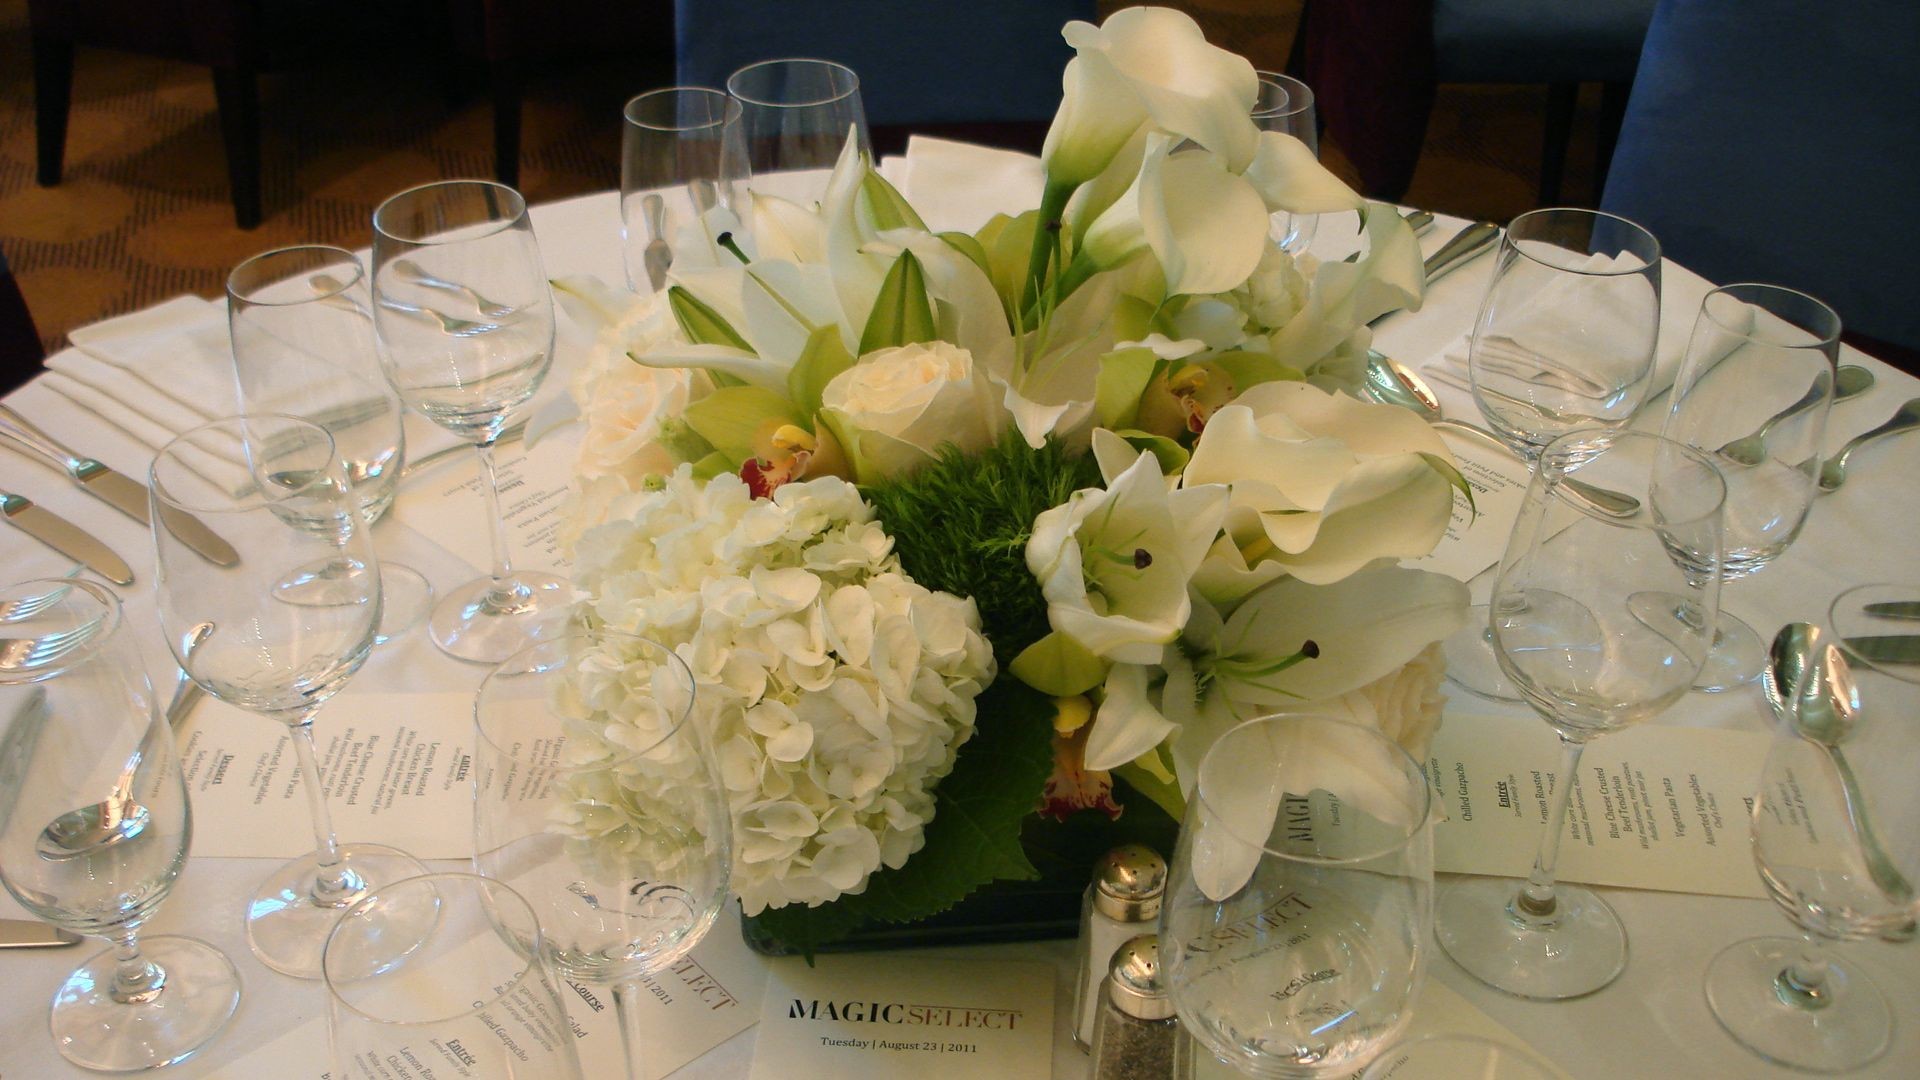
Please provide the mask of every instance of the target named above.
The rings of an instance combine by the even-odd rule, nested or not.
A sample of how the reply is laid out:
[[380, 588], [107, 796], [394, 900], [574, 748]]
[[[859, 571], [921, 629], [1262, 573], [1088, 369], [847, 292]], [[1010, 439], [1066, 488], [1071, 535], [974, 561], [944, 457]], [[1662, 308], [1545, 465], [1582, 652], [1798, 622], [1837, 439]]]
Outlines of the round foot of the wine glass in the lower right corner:
[[1780, 972], [1799, 961], [1797, 938], [1753, 938], [1720, 949], [1707, 965], [1707, 1007], [1740, 1045], [1809, 1072], [1849, 1072], [1887, 1051], [1893, 1013], [1859, 969], [1828, 955], [1826, 1001], [1789, 1003]]

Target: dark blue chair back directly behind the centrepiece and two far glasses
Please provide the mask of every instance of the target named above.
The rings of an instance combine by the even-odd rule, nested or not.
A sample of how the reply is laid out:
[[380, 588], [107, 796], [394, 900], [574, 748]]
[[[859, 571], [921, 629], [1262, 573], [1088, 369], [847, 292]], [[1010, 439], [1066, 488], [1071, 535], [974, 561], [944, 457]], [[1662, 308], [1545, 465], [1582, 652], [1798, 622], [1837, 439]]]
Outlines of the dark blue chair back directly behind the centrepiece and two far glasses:
[[676, 77], [724, 86], [760, 60], [835, 60], [860, 75], [874, 127], [1048, 121], [1073, 50], [1068, 19], [1092, 0], [674, 0]]

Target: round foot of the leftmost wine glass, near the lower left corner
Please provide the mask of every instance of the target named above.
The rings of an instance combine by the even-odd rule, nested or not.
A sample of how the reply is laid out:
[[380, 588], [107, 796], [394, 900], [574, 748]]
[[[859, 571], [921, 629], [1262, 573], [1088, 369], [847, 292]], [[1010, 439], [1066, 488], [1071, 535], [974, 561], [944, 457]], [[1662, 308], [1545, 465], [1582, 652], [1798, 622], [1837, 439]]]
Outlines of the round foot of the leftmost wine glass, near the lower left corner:
[[213, 1042], [240, 1005], [240, 972], [196, 938], [140, 940], [140, 955], [167, 972], [146, 1003], [115, 1001], [115, 949], [90, 957], [54, 992], [48, 1028], [60, 1055], [100, 1072], [134, 1072], [186, 1061]]

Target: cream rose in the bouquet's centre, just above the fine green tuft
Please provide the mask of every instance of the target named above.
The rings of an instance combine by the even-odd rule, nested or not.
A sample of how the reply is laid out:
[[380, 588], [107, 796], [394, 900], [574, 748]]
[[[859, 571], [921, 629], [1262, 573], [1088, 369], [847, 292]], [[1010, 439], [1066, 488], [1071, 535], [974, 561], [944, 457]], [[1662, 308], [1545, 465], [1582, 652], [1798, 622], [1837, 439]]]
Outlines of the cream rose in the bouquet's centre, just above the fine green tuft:
[[943, 444], [973, 454], [993, 444], [993, 382], [948, 342], [870, 352], [820, 394], [858, 479], [877, 480], [933, 459]]

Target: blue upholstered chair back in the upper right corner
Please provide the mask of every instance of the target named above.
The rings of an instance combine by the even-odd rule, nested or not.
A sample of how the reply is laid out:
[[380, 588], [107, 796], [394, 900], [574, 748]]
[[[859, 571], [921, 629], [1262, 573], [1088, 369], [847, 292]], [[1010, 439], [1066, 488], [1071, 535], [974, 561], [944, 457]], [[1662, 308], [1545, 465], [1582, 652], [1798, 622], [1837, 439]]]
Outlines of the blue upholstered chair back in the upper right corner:
[[1711, 281], [1920, 350], [1920, 4], [1661, 0], [1603, 206]]

